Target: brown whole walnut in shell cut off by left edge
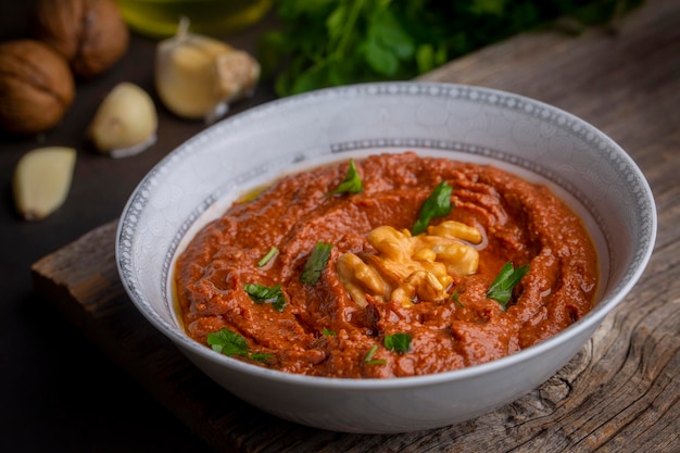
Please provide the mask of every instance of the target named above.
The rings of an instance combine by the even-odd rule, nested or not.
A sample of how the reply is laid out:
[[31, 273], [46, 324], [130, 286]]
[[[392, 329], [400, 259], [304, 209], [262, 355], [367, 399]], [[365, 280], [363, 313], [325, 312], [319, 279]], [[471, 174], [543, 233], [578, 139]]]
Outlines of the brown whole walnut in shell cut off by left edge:
[[0, 45], [0, 127], [16, 134], [47, 130], [75, 96], [66, 60], [34, 39]]

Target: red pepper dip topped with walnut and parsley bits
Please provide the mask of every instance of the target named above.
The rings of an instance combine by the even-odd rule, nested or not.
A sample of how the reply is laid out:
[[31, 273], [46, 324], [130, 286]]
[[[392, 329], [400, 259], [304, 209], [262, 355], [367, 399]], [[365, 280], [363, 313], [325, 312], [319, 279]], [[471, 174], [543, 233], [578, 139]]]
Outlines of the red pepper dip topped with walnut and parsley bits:
[[[352, 172], [358, 190], [339, 190]], [[442, 185], [450, 210], [415, 231]], [[501, 301], [492, 287], [513, 269]], [[597, 260], [549, 188], [405, 152], [289, 175], [235, 203], [182, 251], [175, 284], [187, 334], [227, 355], [287, 373], [391, 378], [486, 363], [554, 336], [591, 310]]]

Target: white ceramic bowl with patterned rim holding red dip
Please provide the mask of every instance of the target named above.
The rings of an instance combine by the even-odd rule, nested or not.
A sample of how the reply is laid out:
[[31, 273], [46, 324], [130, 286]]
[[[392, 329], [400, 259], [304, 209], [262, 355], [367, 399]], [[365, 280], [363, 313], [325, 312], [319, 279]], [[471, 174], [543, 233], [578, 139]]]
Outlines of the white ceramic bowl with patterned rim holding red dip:
[[[190, 340], [173, 309], [171, 269], [187, 239], [243, 191], [284, 172], [415, 150], [493, 162], [549, 184], [595, 242], [597, 304], [559, 335], [483, 365], [387, 380], [265, 369]], [[319, 90], [223, 121], [160, 162], [122, 214], [116, 260], [141, 314], [227, 391], [272, 414], [348, 432], [446, 426], [506, 404], [565, 365], [630, 291], [652, 253], [656, 211], [634, 162], [592, 125], [521, 96], [471, 86], [385, 83]]]

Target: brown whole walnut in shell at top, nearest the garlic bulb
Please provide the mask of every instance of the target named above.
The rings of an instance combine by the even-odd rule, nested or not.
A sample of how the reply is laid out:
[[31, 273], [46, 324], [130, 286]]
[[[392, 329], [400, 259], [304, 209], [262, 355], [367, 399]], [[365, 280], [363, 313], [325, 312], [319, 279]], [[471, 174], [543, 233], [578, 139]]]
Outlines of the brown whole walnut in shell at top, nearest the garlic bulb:
[[129, 30], [114, 0], [38, 0], [33, 34], [68, 60], [73, 73], [91, 78], [127, 50]]

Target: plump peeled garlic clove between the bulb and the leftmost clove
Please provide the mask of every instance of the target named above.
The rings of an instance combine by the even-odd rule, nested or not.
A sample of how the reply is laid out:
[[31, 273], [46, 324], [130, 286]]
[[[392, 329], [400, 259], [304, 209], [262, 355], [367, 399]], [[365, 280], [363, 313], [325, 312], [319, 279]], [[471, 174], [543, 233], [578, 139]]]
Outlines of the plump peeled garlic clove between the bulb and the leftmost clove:
[[88, 134], [95, 147], [112, 158], [138, 154], [156, 140], [153, 100], [137, 85], [116, 85], [99, 105]]

